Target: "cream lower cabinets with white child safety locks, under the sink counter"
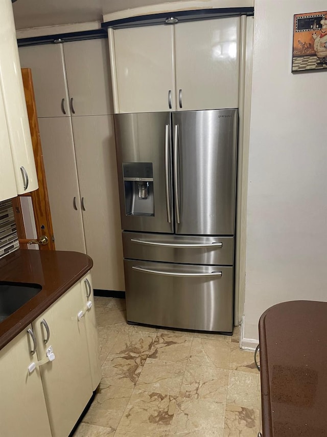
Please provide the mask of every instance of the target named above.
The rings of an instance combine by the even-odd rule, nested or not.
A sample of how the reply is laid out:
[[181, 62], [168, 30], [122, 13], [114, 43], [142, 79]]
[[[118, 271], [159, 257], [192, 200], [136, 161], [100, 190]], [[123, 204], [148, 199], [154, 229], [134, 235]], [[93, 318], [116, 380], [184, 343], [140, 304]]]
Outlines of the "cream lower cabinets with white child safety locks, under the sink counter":
[[90, 274], [0, 351], [0, 372], [1, 437], [69, 435], [101, 380]]

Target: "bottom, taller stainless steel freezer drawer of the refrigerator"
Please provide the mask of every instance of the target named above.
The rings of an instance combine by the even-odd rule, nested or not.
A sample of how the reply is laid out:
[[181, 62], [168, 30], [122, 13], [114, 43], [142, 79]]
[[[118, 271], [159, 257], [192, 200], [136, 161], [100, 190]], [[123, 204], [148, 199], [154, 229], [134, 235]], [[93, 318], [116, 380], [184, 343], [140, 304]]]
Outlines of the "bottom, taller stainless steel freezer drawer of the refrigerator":
[[129, 322], [232, 331], [233, 268], [124, 260]]

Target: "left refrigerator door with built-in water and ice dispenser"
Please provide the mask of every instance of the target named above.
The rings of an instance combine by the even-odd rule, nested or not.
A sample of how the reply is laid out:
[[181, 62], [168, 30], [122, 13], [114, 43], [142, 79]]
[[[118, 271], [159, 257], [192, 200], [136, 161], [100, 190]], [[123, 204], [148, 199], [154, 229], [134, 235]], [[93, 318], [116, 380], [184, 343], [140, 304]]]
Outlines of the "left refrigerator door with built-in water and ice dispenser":
[[122, 229], [173, 232], [171, 114], [114, 114]]

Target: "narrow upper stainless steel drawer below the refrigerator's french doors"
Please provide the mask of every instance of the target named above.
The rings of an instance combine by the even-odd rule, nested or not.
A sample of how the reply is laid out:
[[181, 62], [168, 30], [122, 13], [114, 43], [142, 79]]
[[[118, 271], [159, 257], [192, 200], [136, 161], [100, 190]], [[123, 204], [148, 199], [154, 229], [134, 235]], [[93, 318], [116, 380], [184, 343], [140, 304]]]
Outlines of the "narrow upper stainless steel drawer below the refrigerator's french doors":
[[123, 232], [124, 258], [185, 264], [232, 265], [233, 237]]

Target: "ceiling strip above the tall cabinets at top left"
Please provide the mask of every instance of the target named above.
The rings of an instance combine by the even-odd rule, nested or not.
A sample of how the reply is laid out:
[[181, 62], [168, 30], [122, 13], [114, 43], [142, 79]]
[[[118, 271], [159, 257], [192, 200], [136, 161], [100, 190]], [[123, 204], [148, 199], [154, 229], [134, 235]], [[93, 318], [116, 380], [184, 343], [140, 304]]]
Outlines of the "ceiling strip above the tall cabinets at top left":
[[[103, 14], [178, 0], [17, 0], [16, 29], [102, 21]], [[179, 0], [180, 1], [180, 0]]]

